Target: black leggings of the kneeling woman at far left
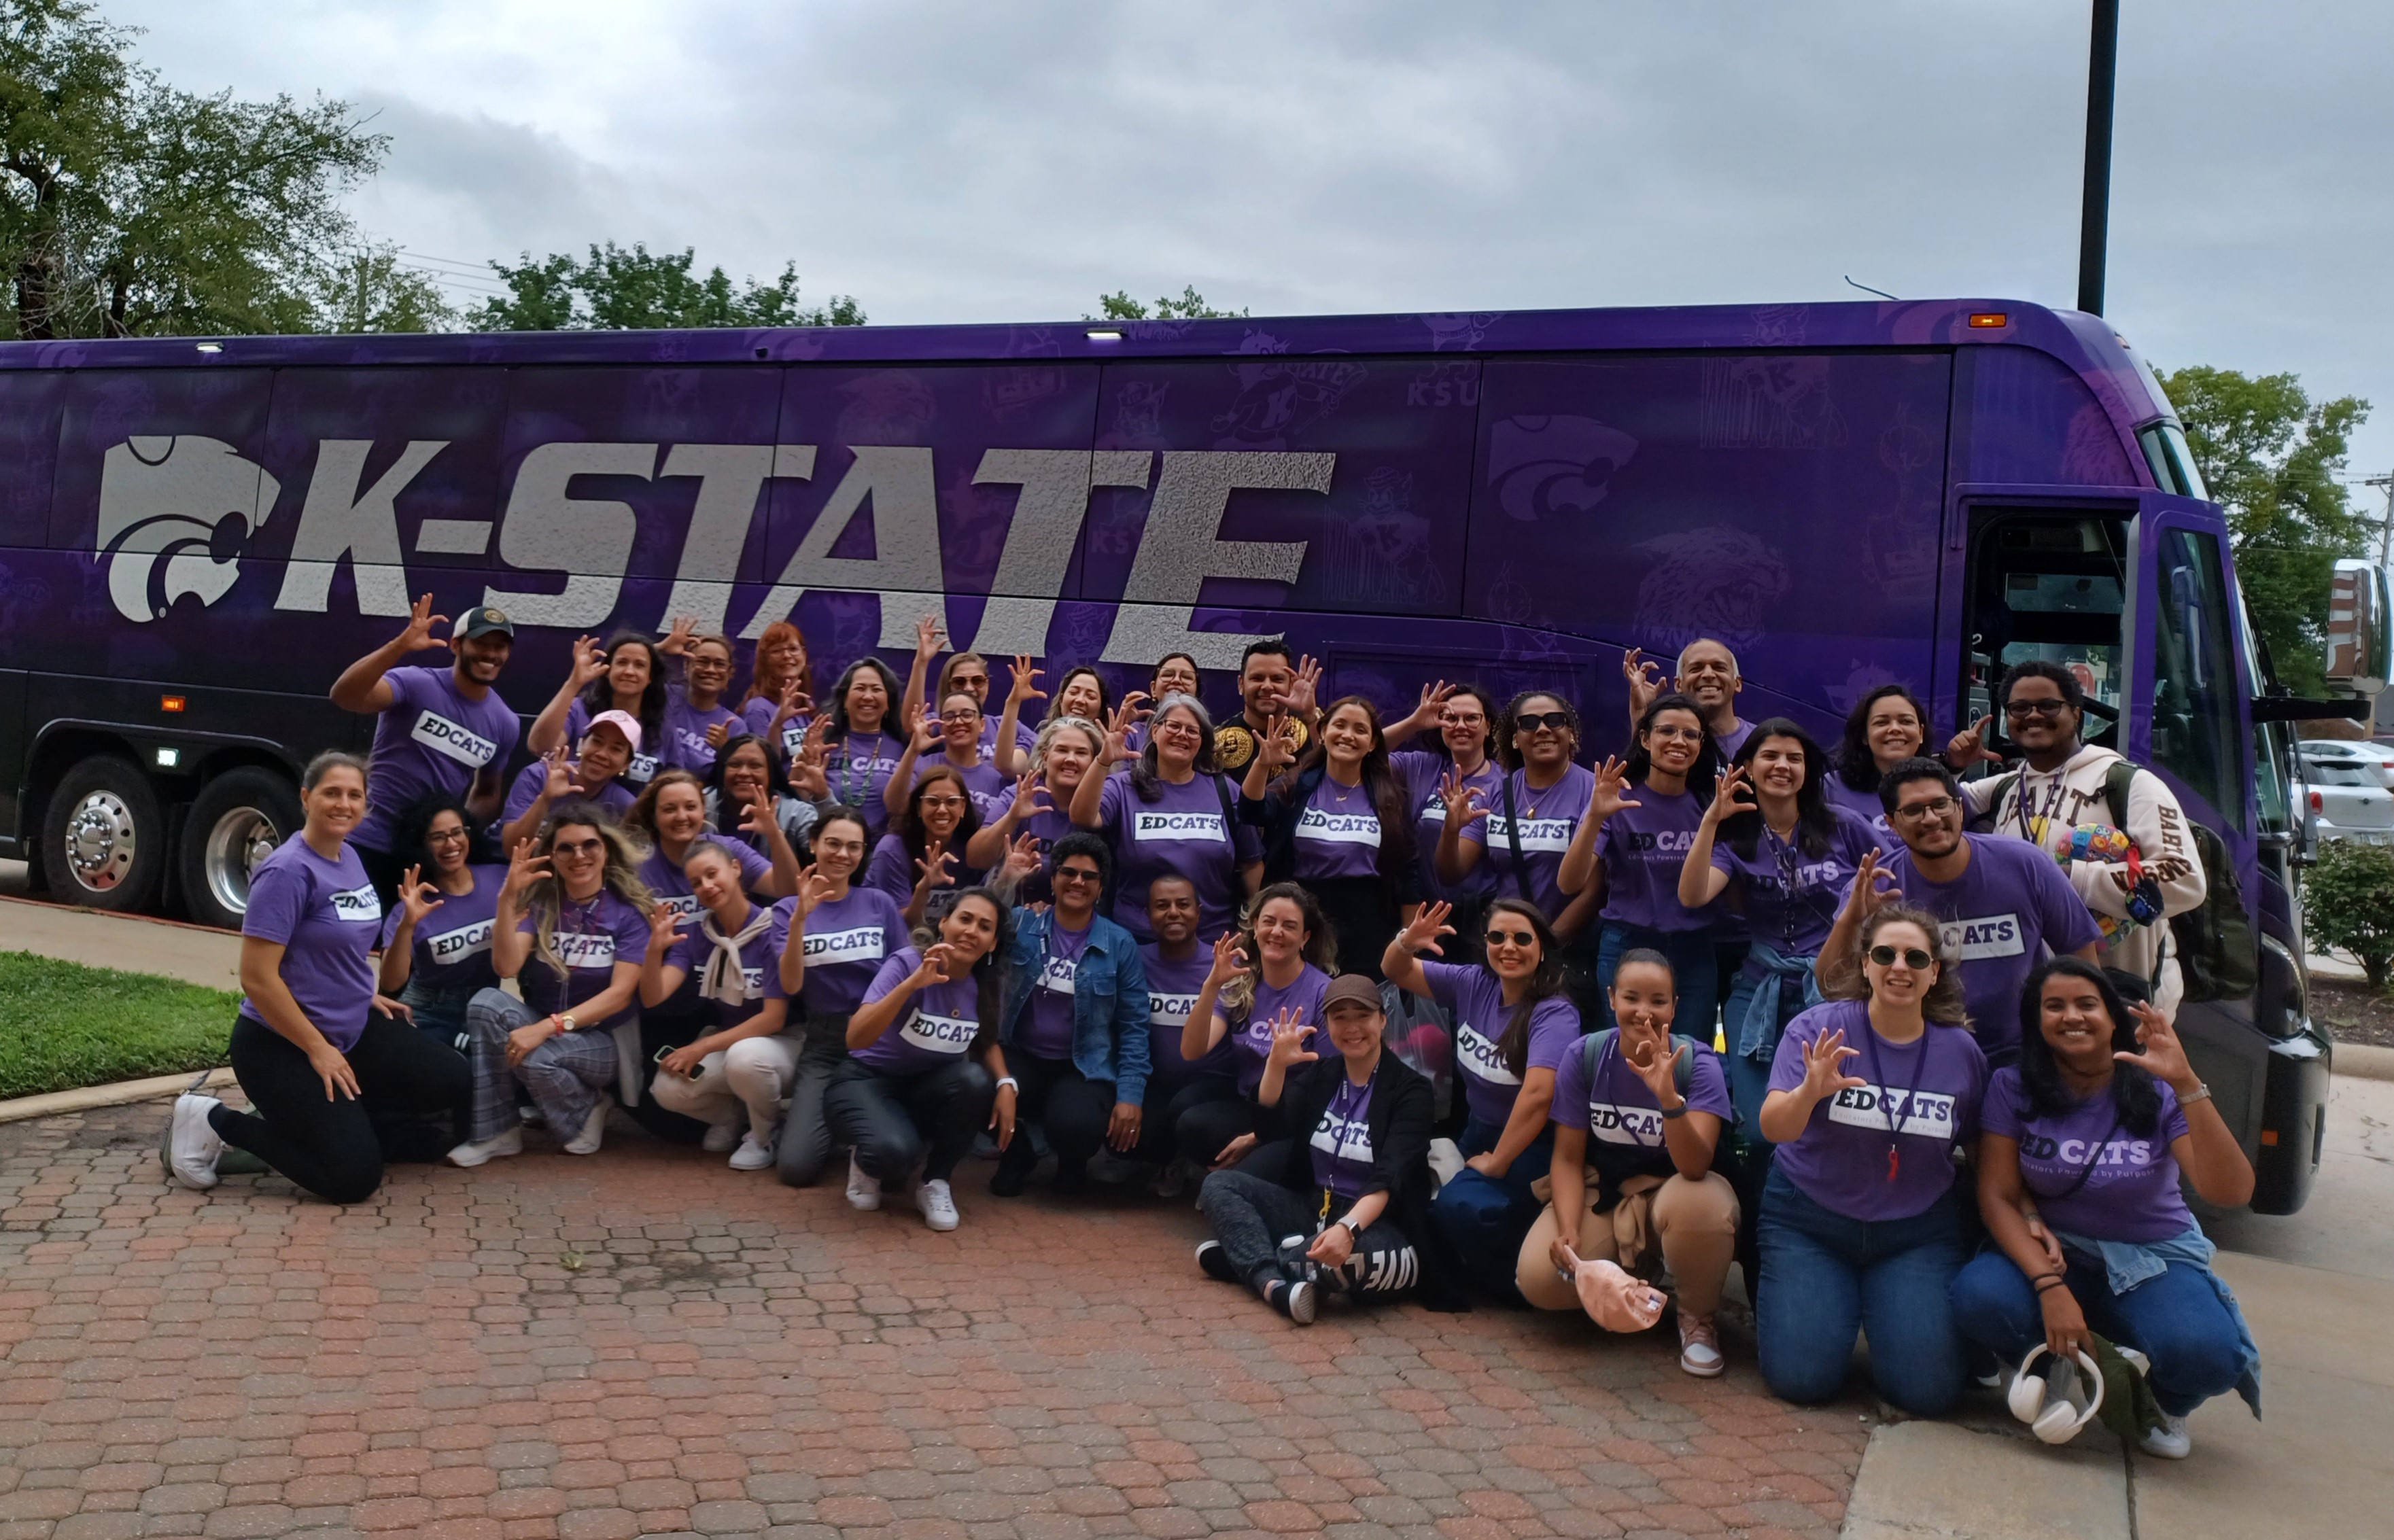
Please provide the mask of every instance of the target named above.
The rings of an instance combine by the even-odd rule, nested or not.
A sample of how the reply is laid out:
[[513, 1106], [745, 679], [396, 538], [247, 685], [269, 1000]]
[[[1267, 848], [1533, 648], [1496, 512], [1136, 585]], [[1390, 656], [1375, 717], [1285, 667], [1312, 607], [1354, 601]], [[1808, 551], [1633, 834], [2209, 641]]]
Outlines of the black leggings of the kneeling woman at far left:
[[208, 1126], [318, 1198], [364, 1202], [383, 1186], [378, 1123], [455, 1114], [462, 1128], [474, 1075], [455, 1049], [371, 1013], [347, 1059], [359, 1095], [326, 1099], [306, 1054], [273, 1027], [235, 1018], [232, 1075], [256, 1114], [218, 1107]]

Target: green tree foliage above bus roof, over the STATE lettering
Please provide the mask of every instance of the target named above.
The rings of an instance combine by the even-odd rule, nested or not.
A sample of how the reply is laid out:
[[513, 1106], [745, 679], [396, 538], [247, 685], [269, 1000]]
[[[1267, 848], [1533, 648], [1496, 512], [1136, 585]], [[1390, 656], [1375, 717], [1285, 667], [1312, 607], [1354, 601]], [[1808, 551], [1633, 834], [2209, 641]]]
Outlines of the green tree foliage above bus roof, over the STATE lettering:
[[723, 268], [697, 273], [697, 251], [649, 251], [608, 242], [575, 259], [522, 254], [493, 261], [508, 297], [484, 299], [467, 326], [474, 331], [632, 331], [654, 326], [864, 326], [855, 295], [828, 304], [802, 304], [797, 263], [771, 283], [749, 278], [733, 287]]

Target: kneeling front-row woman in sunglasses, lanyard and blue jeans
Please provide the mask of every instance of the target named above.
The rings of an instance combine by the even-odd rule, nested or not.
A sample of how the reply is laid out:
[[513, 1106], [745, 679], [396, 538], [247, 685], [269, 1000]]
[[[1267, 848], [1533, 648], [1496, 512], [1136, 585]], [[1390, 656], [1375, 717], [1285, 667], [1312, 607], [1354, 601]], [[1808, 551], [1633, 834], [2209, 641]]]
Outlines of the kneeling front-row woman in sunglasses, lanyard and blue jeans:
[[1827, 1401], [1867, 1332], [1879, 1396], [1934, 1418], [1968, 1384], [1946, 1298], [1965, 1236], [1954, 1154], [1977, 1142], [1987, 1056], [1922, 910], [1877, 910], [1855, 960], [1834, 977], [1858, 996], [1788, 1023], [1762, 1099], [1779, 1145], [1757, 1224], [1762, 1380]]

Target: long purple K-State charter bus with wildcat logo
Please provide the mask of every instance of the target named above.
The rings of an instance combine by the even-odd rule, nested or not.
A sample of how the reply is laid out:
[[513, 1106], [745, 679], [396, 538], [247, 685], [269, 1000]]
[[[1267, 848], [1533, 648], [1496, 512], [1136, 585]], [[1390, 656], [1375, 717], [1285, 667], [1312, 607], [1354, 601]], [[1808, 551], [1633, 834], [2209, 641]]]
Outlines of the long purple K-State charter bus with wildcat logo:
[[[2013, 661], [2231, 853], [2258, 987], [2181, 1011], [2260, 1166], [2308, 1195], [2284, 721], [2229, 536], [2152, 371], [2013, 302], [843, 331], [0, 345], [0, 853], [69, 903], [232, 924], [294, 766], [364, 747], [326, 687], [409, 596], [517, 623], [536, 709], [579, 632], [754, 639], [819, 673], [946, 618], [1049, 678], [1228, 671], [1324, 699], [1429, 678], [1573, 697], [1738, 649], [1743, 716], [1834, 738], [1879, 683], [1930, 742]], [[1214, 675], [1216, 707], [1235, 709]], [[2090, 723], [2097, 726], [2097, 723]], [[2214, 877], [2217, 879], [2217, 877]]]

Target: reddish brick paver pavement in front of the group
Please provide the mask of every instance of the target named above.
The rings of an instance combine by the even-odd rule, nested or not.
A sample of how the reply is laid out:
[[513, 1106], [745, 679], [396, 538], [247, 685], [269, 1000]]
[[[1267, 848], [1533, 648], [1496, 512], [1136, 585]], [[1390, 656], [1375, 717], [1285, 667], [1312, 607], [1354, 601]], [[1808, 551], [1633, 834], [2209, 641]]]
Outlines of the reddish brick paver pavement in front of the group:
[[1185, 1202], [857, 1214], [618, 1130], [371, 1205], [160, 1181], [163, 1104], [0, 1128], [0, 1540], [405, 1530], [1834, 1535], [1867, 1403], [1661, 1334], [1310, 1329]]

